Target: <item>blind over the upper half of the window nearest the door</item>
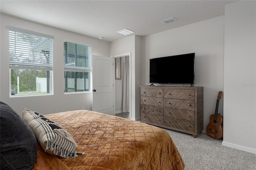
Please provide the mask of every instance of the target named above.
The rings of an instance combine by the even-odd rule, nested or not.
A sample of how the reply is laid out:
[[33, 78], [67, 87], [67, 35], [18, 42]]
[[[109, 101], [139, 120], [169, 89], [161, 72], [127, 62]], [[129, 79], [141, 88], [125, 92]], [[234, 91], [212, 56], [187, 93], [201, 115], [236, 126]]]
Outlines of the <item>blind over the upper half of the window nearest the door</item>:
[[92, 71], [92, 47], [64, 42], [65, 71]]

